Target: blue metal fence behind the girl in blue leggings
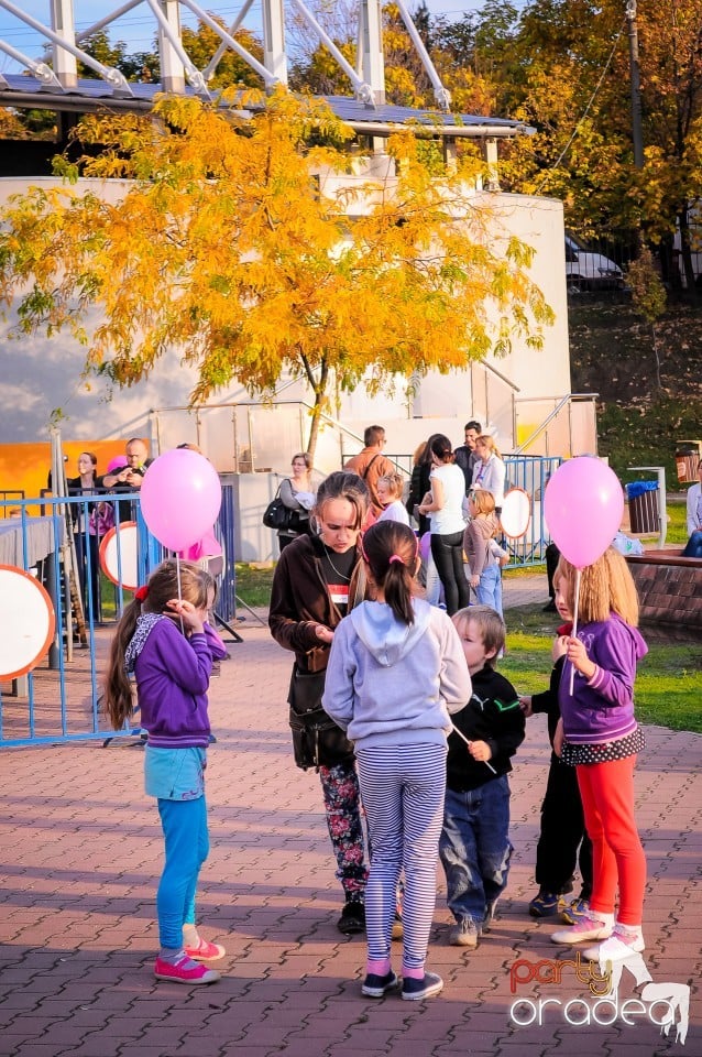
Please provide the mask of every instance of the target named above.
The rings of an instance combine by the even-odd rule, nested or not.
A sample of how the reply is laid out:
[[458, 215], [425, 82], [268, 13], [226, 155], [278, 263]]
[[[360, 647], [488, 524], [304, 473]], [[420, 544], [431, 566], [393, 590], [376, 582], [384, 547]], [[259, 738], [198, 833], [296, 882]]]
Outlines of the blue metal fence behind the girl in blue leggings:
[[[96, 526], [98, 502], [110, 502], [113, 510], [116, 582], [100, 571], [100, 538], [90, 531], [91, 515]], [[13, 516], [6, 516], [9, 506]], [[85, 740], [107, 744], [116, 737], [140, 733], [132, 726], [116, 734], [100, 707], [112, 631], [136, 586], [124, 579], [128, 564], [130, 579], [134, 575], [131, 558], [128, 562], [122, 554], [119, 532], [128, 520], [136, 524], [136, 580], [144, 584], [165, 552], [144, 523], [138, 494], [117, 500], [90, 494], [0, 501], [0, 565], [35, 576], [52, 600], [56, 620], [53, 642], [37, 667], [0, 683], [0, 748]], [[217, 602], [217, 612], [226, 621], [235, 615], [233, 526], [233, 488], [226, 484], [216, 525], [230, 557]]]

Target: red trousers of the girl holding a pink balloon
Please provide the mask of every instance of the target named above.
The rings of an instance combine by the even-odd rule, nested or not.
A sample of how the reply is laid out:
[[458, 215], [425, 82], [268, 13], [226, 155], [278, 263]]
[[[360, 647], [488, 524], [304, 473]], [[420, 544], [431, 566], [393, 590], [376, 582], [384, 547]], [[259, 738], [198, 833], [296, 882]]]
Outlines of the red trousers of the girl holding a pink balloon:
[[592, 841], [593, 885], [590, 906], [612, 914], [619, 890], [617, 920], [640, 925], [646, 887], [646, 856], [634, 818], [636, 756], [575, 767]]

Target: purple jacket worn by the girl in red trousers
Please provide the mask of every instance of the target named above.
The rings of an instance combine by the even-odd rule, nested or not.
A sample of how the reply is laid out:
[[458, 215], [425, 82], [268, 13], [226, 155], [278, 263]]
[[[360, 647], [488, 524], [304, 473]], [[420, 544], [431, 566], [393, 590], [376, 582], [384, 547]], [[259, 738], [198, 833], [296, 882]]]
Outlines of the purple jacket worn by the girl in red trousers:
[[597, 745], [625, 738], [636, 730], [636, 663], [648, 653], [648, 646], [636, 628], [615, 613], [579, 628], [578, 638], [597, 668], [590, 680], [575, 672], [571, 695], [572, 664], [566, 661], [563, 665], [558, 702], [566, 740], [573, 745]]

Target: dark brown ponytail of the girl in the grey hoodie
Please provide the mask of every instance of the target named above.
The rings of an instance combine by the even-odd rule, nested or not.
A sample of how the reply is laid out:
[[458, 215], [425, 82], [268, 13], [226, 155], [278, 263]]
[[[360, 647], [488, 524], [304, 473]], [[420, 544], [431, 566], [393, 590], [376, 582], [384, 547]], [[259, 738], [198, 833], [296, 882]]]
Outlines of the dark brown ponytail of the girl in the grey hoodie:
[[397, 620], [415, 622], [412, 596], [417, 571], [417, 537], [398, 521], [377, 521], [363, 535], [363, 559]]

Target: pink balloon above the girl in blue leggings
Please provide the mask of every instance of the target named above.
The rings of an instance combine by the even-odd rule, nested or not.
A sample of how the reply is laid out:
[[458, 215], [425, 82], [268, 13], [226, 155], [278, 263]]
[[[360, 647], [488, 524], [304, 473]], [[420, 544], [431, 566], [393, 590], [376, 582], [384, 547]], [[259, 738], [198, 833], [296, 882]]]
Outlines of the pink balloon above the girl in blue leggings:
[[169, 551], [197, 543], [217, 521], [222, 502], [217, 470], [188, 448], [174, 448], [154, 459], [140, 491], [149, 531]]

